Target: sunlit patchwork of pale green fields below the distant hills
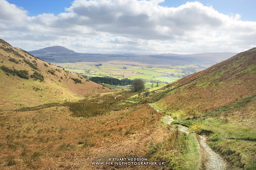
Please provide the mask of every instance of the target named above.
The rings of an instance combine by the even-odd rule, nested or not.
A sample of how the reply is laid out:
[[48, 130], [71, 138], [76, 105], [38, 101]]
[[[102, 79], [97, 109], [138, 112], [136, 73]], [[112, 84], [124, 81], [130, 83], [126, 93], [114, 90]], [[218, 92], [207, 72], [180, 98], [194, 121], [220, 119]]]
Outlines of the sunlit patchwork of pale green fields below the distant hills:
[[[96, 66], [98, 62], [76, 62], [76, 63], [56, 63], [68, 71], [87, 75], [88, 77], [113, 77], [129, 78], [159, 81], [160, 83], [171, 83], [184, 76], [183, 70], [193, 67], [196, 71], [201, 71], [202, 67], [209, 65], [146, 65], [143, 63], [125, 63], [123, 61], [111, 61], [101, 63], [102, 66]], [[183, 70], [182, 70], [183, 69]]]

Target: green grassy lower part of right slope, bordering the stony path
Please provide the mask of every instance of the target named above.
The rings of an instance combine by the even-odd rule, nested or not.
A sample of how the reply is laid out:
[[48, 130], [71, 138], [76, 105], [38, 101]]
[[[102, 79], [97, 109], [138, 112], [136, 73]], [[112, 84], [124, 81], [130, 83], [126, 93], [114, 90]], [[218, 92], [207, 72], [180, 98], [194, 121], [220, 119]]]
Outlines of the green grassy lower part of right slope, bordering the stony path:
[[[210, 147], [220, 152], [232, 168], [255, 169], [255, 118], [246, 116], [255, 111], [254, 103], [256, 98], [252, 95], [194, 119], [183, 119], [183, 115], [176, 113], [175, 123], [189, 127], [188, 130], [197, 134], [207, 135]], [[189, 157], [186, 159], [190, 160]]]

